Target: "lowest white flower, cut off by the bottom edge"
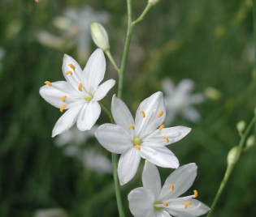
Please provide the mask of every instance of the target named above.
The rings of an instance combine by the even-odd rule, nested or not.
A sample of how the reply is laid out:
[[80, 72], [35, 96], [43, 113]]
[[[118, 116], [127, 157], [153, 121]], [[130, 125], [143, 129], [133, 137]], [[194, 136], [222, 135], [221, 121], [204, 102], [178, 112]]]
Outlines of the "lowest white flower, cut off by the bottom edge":
[[128, 194], [130, 211], [135, 217], [195, 217], [206, 214], [209, 207], [197, 201], [197, 190], [187, 197], [180, 197], [193, 184], [197, 176], [197, 165], [194, 163], [172, 172], [161, 189], [158, 169], [149, 161], [145, 162], [142, 172], [143, 187], [133, 189]]

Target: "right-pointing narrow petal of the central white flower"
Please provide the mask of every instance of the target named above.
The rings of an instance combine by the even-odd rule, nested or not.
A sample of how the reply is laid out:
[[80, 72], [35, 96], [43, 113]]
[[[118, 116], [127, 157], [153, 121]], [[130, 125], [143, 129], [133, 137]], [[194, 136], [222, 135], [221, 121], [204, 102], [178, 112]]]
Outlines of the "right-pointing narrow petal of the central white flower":
[[186, 126], [174, 126], [169, 128], [163, 128], [162, 130], [155, 130], [143, 139], [143, 143], [159, 143], [165, 146], [178, 142], [181, 138], [184, 138], [191, 128]]

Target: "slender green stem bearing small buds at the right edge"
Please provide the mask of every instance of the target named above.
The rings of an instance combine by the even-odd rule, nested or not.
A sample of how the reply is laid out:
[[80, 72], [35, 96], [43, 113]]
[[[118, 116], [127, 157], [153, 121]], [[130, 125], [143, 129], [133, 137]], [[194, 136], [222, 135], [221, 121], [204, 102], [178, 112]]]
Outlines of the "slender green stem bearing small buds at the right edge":
[[[237, 157], [237, 161], [238, 161], [239, 158], [240, 158], [243, 145], [245, 144], [245, 139], [247, 138], [247, 136], [248, 136], [248, 134], [249, 134], [249, 130], [251, 130], [252, 127], [254, 126], [255, 120], [256, 120], [256, 116], [254, 116], [253, 120], [250, 121], [249, 126], [247, 126], [247, 128], [246, 128], [246, 130], [245, 130], [245, 134], [242, 134], [242, 135], [241, 135], [240, 142], [238, 143], [238, 146], [237, 146], [239, 151], [236, 152], [236, 156], [234, 157], [235, 159], [236, 159], [236, 157]], [[237, 162], [237, 161], [236, 161], [236, 162]], [[219, 197], [220, 197], [220, 195], [222, 194], [223, 189], [225, 188], [225, 186], [226, 186], [226, 184], [227, 184], [227, 182], [228, 182], [228, 179], [229, 179], [229, 177], [230, 177], [230, 175], [231, 175], [231, 173], [232, 173], [232, 170], [233, 170], [233, 168], [234, 168], [236, 162], [233, 163], [233, 164], [228, 164], [228, 167], [227, 167], [227, 169], [226, 169], [226, 172], [225, 172], [225, 175], [224, 175], [224, 177], [223, 177], [223, 180], [221, 181], [221, 183], [220, 183], [220, 185], [219, 185], [219, 189], [218, 189], [218, 191], [217, 191], [217, 194], [215, 195], [215, 199], [214, 199], [214, 201], [212, 202], [212, 205], [210, 206], [210, 211], [209, 211], [209, 213], [208, 213], [208, 215], [207, 215], [206, 217], [210, 217], [211, 214], [212, 214], [212, 212], [215, 210], [215, 206], [216, 206], [217, 202], [219, 201]]]

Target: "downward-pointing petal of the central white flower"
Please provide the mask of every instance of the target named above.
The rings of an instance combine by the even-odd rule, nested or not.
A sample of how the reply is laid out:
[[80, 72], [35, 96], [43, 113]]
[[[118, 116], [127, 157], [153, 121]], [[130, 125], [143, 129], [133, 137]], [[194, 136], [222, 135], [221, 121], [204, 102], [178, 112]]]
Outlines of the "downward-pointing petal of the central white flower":
[[128, 183], [135, 176], [140, 161], [141, 155], [136, 147], [131, 147], [120, 156], [117, 168], [120, 185]]

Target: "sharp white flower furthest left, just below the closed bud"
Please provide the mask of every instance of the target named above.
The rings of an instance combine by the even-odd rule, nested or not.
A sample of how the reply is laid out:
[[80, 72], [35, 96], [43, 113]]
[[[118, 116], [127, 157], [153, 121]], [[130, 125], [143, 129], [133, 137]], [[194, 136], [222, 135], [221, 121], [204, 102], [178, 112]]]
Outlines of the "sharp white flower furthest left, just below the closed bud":
[[40, 88], [41, 96], [50, 104], [67, 112], [56, 122], [52, 137], [62, 134], [75, 123], [79, 130], [90, 130], [101, 113], [98, 100], [102, 100], [114, 86], [110, 79], [99, 85], [104, 78], [106, 59], [102, 49], [89, 57], [84, 70], [67, 54], [63, 57], [63, 75], [67, 81], [50, 83]]

